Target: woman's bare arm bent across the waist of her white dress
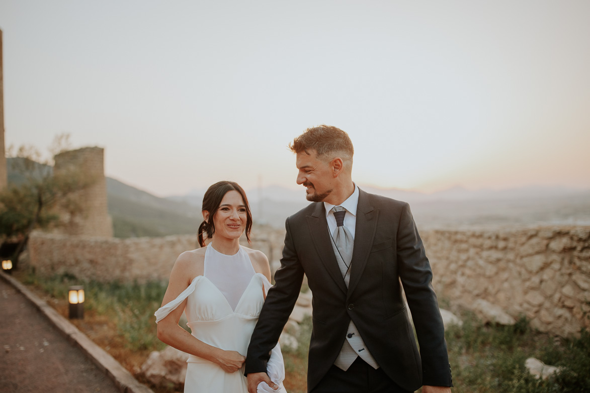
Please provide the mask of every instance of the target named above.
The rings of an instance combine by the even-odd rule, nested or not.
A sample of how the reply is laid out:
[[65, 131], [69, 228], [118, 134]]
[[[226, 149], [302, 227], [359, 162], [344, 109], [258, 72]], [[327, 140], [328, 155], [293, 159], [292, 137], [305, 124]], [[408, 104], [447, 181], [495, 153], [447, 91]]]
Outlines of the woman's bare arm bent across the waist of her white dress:
[[[162, 305], [176, 299], [189, 286], [195, 276], [202, 275], [202, 266], [200, 255], [195, 255], [194, 252], [182, 253], [172, 267], [168, 289], [166, 289]], [[244, 364], [244, 356], [235, 351], [224, 351], [205, 344], [178, 325], [185, 306], [186, 299], [158, 322], [158, 339], [182, 352], [214, 362], [225, 372], [231, 373], [239, 370]]]

